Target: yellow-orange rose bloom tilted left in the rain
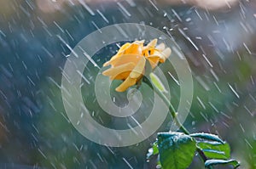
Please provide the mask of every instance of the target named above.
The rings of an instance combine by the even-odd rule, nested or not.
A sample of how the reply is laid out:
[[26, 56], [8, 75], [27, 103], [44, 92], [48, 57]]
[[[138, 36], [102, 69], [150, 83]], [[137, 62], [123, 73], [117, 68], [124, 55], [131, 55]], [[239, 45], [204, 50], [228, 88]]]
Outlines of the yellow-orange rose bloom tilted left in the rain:
[[171, 54], [171, 49], [166, 48], [164, 43], [157, 45], [157, 39], [143, 46], [143, 41], [126, 42], [117, 54], [115, 54], [103, 66], [111, 65], [102, 74], [109, 76], [111, 80], [123, 80], [117, 92], [124, 92], [127, 88], [139, 82], [145, 70], [146, 59], [148, 59], [152, 69], [160, 63], [164, 63]]

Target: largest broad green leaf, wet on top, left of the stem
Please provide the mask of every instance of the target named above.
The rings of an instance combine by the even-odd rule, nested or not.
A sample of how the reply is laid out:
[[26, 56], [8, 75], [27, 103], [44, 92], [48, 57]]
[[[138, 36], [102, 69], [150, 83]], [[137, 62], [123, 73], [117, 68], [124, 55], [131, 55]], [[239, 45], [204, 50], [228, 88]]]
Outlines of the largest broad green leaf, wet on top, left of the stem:
[[185, 169], [193, 161], [195, 139], [183, 132], [160, 132], [158, 149], [164, 169]]

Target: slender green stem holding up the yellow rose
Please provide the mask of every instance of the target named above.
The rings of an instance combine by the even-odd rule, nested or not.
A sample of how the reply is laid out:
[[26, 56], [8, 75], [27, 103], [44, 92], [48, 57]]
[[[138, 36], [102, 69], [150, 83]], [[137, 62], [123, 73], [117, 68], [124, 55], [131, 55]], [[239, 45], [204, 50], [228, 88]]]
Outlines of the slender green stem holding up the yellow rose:
[[[149, 80], [147, 78], [143, 79], [143, 82], [148, 84], [148, 87], [150, 87], [155, 93], [158, 94], [158, 96], [164, 101], [164, 103], [168, 106], [169, 108], [169, 112], [172, 115], [173, 120], [177, 123], [177, 126], [180, 128], [180, 130], [182, 132], [184, 132], [185, 134], [190, 134], [190, 132], [183, 127], [183, 124], [177, 119], [177, 113], [176, 110], [174, 109], [174, 107], [172, 106], [172, 103], [169, 101], [169, 99], [166, 98], [166, 95], [162, 92], [160, 92], [160, 90], [157, 87], [153, 87], [151, 82], [149, 82]], [[196, 151], [198, 152], [198, 154], [201, 156], [202, 161], [207, 161], [207, 156], [204, 154], [204, 152], [201, 149], [196, 149]], [[212, 169], [212, 167], [210, 167], [210, 169]]]

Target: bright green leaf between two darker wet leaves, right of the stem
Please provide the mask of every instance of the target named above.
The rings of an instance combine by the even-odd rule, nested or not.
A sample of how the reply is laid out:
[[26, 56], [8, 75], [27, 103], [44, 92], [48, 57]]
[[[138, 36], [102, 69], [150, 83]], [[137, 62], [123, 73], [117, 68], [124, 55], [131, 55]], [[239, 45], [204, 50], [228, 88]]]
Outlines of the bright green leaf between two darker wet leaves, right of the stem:
[[198, 142], [196, 145], [204, 152], [208, 159], [227, 160], [230, 158], [230, 145], [227, 143]]

